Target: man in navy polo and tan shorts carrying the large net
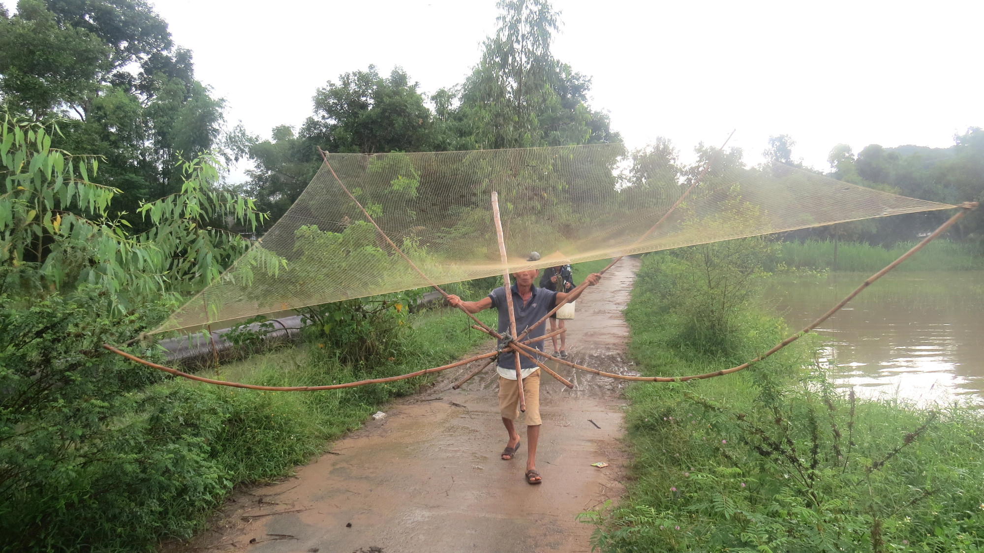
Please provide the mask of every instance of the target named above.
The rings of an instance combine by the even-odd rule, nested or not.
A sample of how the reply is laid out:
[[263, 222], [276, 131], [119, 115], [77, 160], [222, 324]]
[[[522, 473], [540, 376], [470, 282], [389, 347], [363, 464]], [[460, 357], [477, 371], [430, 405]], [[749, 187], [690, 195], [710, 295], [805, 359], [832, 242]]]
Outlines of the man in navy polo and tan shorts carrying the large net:
[[[533, 285], [539, 271], [531, 269], [513, 274], [514, 283], [512, 285], [513, 310], [516, 315], [516, 332], [523, 334], [530, 325], [539, 321], [558, 303], [567, 299], [574, 301], [578, 299], [584, 288], [575, 292], [555, 292], [546, 288], [537, 288]], [[586, 281], [593, 286], [601, 279], [601, 275], [595, 273], [587, 276]], [[499, 286], [492, 290], [488, 296], [478, 301], [461, 301], [461, 298], [452, 295], [448, 296], [448, 301], [454, 306], [463, 307], [468, 313], [478, 313], [484, 309], [495, 307], [499, 310], [499, 334], [508, 333], [509, 311], [506, 304], [505, 286]], [[526, 338], [538, 338], [543, 336], [546, 323], [539, 325], [531, 330]], [[515, 337], [514, 337], [515, 338]], [[533, 342], [530, 345], [543, 350], [543, 340]], [[500, 341], [499, 346], [502, 346]], [[504, 350], [499, 355], [499, 411], [502, 414], [502, 423], [509, 432], [509, 442], [506, 449], [502, 452], [503, 461], [512, 461], [516, 457], [517, 450], [520, 449], [520, 434], [516, 431], [513, 420], [520, 416], [520, 391], [516, 383], [516, 361], [515, 352]], [[542, 481], [540, 473], [536, 471], [536, 442], [540, 437], [540, 370], [532, 360], [520, 356], [521, 371], [523, 377], [523, 396], [526, 400], [526, 449], [529, 452], [526, 460], [526, 482], [539, 484]]]

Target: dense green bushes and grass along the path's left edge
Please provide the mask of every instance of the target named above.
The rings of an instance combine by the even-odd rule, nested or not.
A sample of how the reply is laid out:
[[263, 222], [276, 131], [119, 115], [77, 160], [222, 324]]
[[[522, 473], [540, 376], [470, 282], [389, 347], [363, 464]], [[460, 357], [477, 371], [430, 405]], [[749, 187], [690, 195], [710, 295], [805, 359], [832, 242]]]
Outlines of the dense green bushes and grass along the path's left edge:
[[[27, 313], [4, 308], [0, 550], [149, 550], [161, 538], [188, 537], [233, 486], [288, 472], [382, 401], [428, 381], [304, 394], [165, 381], [97, 352], [102, 341], [134, 336], [154, 314], [121, 323], [93, 315], [99, 302], [94, 292]], [[441, 365], [485, 339], [457, 311], [407, 321], [414, 328], [400, 336], [404, 355], [392, 361], [346, 365], [338, 351], [312, 343], [218, 373], [269, 386], [350, 382]], [[136, 352], [160, 360], [153, 348]]]

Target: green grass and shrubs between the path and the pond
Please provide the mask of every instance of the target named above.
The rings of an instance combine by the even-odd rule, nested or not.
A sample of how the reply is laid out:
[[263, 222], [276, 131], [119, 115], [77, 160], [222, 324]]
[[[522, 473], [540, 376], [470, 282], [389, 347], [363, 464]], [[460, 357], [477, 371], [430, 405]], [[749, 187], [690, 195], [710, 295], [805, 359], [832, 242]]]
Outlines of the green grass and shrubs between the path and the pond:
[[[744, 284], [727, 243], [647, 255], [627, 319], [645, 374], [682, 376], [734, 366], [787, 336], [748, 301], [709, 324], [693, 279], [722, 297]], [[703, 264], [697, 254], [709, 254]], [[688, 277], [691, 272], [696, 273]], [[667, 282], [668, 280], [668, 282]], [[739, 285], [740, 284], [740, 285]], [[680, 286], [683, 287], [680, 287]], [[720, 313], [720, 312], [718, 312]], [[704, 333], [694, 325], [705, 322]], [[710, 335], [727, 330], [707, 348]], [[979, 551], [984, 546], [984, 417], [858, 399], [835, 388], [801, 338], [721, 378], [640, 384], [629, 392], [635, 452], [629, 493], [599, 524], [603, 551]]]

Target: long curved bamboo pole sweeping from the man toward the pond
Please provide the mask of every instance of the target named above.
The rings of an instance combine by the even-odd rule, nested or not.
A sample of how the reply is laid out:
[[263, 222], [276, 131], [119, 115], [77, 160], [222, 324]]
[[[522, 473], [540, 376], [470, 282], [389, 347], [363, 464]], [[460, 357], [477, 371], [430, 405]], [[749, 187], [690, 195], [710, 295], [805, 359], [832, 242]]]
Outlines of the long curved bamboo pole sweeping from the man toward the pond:
[[582, 371], [593, 373], [593, 374], [596, 374], [596, 375], [599, 375], [599, 376], [604, 376], [604, 377], [608, 377], [608, 378], [614, 378], [614, 379], [618, 379], [618, 380], [633, 380], [633, 381], [642, 381], [642, 382], [678, 382], [678, 381], [679, 382], [686, 382], [688, 380], [701, 380], [701, 379], [713, 378], [713, 377], [718, 377], [718, 376], [724, 376], [724, 375], [731, 374], [731, 373], [736, 373], [738, 371], [747, 369], [748, 367], [751, 367], [752, 365], [754, 365], [754, 364], [762, 361], [766, 357], [769, 357], [769, 355], [775, 353], [779, 349], [782, 349], [783, 347], [785, 347], [785, 346], [789, 345], [790, 343], [796, 341], [797, 339], [805, 336], [806, 334], [812, 332], [814, 329], [816, 329], [817, 327], [819, 327], [820, 325], [822, 325], [824, 323], [824, 321], [827, 321], [828, 319], [830, 319], [830, 317], [833, 316], [834, 313], [836, 313], [837, 311], [839, 311], [840, 308], [842, 308], [843, 306], [847, 305], [847, 302], [849, 302], [850, 300], [854, 299], [855, 296], [857, 296], [859, 293], [861, 293], [865, 288], [867, 288], [868, 286], [870, 286], [873, 282], [875, 282], [876, 280], [878, 280], [882, 276], [885, 276], [886, 274], [888, 274], [890, 271], [892, 271], [892, 269], [898, 267], [898, 265], [901, 264], [903, 261], [905, 261], [905, 260], [909, 259], [910, 257], [912, 257], [913, 254], [915, 254], [919, 250], [923, 249], [923, 247], [925, 247], [926, 244], [929, 244], [933, 240], [937, 239], [941, 234], [943, 234], [951, 226], [953, 226], [953, 224], [956, 221], [960, 220], [965, 215], [967, 215], [968, 213], [970, 213], [971, 210], [977, 209], [977, 202], [965, 202], [965, 203], [960, 204], [959, 206], [957, 206], [957, 208], [959, 208], [960, 211], [957, 212], [956, 214], [954, 214], [952, 217], [950, 217], [950, 219], [947, 220], [947, 222], [944, 222], [943, 224], [941, 224], [940, 227], [937, 228], [936, 230], [934, 230], [932, 234], [930, 234], [929, 236], [927, 236], [926, 238], [924, 238], [921, 242], [919, 242], [918, 244], [916, 244], [915, 246], [913, 246], [909, 251], [907, 251], [904, 254], [902, 254], [901, 256], [899, 256], [898, 259], [896, 259], [895, 261], [893, 261], [892, 263], [890, 263], [889, 265], [887, 265], [885, 267], [885, 269], [882, 269], [878, 273], [876, 273], [876, 274], [874, 274], [872, 276], [869, 276], [867, 280], [865, 280], [864, 282], [862, 282], [860, 286], [858, 286], [857, 288], [854, 289], [854, 291], [852, 291], [851, 293], [847, 294], [847, 296], [844, 297], [844, 299], [840, 300], [839, 303], [837, 303], [836, 305], [834, 305], [833, 307], [831, 307], [830, 310], [828, 310], [828, 312], [825, 313], [824, 315], [822, 315], [819, 319], [817, 319], [813, 323], [811, 323], [811, 324], [807, 325], [806, 327], [804, 327], [803, 330], [801, 330], [800, 332], [798, 332], [798, 333], [790, 336], [789, 338], [785, 338], [782, 341], [780, 341], [779, 343], [775, 344], [775, 346], [773, 346], [771, 349], [769, 349], [769, 351], [763, 353], [762, 355], [759, 355], [758, 357], [756, 357], [756, 358], [754, 358], [754, 359], [752, 359], [752, 360], [750, 360], [748, 362], [742, 363], [741, 365], [738, 365], [736, 367], [731, 367], [730, 369], [724, 369], [724, 370], [720, 370], [720, 371], [714, 371], [712, 373], [705, 373], [705, 374], [691, 375], [691, 376], [682, 376], [682, 377], [627, 376], [627, 375], [619, 375], [619, 374], [614, 374], [614, 373], [606, 373], [606, 372], [603, 372], [603, 371], [599, 371], [597, 369], [591, 369], [591, 368], [588, 368], [588, 367], [584, 367], [582, 365], [578, 365], [576, 363], [572, 363], [570, 361], [567, 361], [567, 360], [564, 360], [564, 359], [560, 359], [560, 358], [554, 357], [553, 355], [548, 355], [546, 353], [543, 353], [543, 352], [539, 351], [538, 349], [533, 349], [533, 348], [529, 347], [528, 345], [525, 345], [525, 344], [523, 344], [521, 342], [514, 342], [514, 344], [516, 346], [522, 347], [526, 351], [535, 351], [535, 352], [539, 353], [540, 355], [542, 355], [542, 356], [544, 356], [544, 357], [546, 357], [548, 359], [552, 359], [552, 360], [557, 361], [559, 363], [562, 363], [564, 365], [568, 365], [570, 367], [574, 367], [576, 369], [580, 369]]

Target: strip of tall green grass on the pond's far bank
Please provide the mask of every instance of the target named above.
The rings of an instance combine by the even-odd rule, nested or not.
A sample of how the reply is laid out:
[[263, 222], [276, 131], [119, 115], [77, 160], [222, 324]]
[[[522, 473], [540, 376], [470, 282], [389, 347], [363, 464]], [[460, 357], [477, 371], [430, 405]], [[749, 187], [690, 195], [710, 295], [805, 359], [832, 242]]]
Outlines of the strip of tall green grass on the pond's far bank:
[[[891, 248], [859, 242], [808, 240], [783, 242], [778, 262], [793, 269], [876, 272], [904, 254], [915, 242], [899, 242]], [[975, 244], [935, 240], [898, 267], [898, 271], [984, 270], [984, 252]]]

